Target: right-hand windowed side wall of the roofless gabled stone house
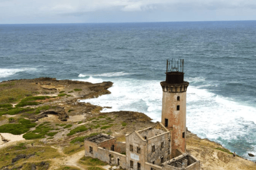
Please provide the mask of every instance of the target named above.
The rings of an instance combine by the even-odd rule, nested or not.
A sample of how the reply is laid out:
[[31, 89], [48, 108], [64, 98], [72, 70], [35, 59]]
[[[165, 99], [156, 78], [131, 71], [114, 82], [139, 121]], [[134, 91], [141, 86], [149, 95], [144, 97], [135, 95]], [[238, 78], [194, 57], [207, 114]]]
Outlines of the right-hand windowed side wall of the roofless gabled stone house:
[[[164, 142], [163, 148], [161, 143]], [[153, 151], [153, 146], [155, 146], [155, 151]], [[170, 146], [170, 132], [165, 132], [161, 135], [156, 135], [153, 138], [148, 139], [147, 143], [147, 159], [148, 163], [155, 163], [155, 165], [161, 165], [161, 158], [163, 157], [163, 162], [170, 159], [171, 154]]]

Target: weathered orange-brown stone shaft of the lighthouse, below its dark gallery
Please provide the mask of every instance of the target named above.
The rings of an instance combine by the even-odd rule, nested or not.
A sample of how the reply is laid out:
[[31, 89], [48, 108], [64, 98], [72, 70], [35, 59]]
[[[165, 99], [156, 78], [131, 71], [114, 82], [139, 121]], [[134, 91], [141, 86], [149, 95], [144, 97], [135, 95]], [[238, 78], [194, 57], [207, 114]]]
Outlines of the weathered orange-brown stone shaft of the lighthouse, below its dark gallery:
[[[171, 87], [168, 87], [171, 88]], [[180, 97], [178, 100], [177, 97]], [[177, 111], [179, 106], [179, 111]], [[180, 148], [186, 152], [186, 91], [173, 93], [169, 90], [163, 91], [162, 101], [162, 123], [165, 125], [165, 118], [168, 119], [167, 129], [173, 128], [172, 133], [172, 154], [176, 157], [176, 149]], [[183, 134], [184, 133], [184, 138]]]

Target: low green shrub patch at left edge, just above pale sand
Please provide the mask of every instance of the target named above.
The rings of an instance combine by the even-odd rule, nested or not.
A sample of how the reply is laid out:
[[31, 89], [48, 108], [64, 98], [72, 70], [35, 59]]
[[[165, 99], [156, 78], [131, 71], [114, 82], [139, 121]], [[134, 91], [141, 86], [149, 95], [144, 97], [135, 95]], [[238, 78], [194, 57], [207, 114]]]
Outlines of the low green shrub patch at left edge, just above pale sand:
[[30, 128], [36, 126], [36, 123], [31, 123], [25, 118], [21, 118], [18, 122], [19, 123], [4, 124], [0, 126], [0, 133], [23, 134], [28, 132]]

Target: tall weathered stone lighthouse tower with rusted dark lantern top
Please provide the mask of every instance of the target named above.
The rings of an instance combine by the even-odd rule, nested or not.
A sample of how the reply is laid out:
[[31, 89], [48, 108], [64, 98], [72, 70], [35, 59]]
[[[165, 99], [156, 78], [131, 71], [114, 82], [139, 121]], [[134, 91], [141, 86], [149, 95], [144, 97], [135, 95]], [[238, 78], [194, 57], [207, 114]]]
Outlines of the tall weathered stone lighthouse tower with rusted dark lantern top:
[[184, 81], [183, 60], [167, 60], [166, 80], [163, 89], [162, 123], [172, 134], [171, 158], [177, 149], [186, 152], [186, 91], [189, 82]]

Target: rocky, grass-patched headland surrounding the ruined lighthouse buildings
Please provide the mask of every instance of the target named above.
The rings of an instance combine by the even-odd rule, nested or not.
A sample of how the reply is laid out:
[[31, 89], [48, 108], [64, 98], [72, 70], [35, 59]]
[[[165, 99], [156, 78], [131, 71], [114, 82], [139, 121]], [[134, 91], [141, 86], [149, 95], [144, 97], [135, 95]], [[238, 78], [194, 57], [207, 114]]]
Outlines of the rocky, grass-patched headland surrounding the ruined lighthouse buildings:
[[[111, 167], [84, 157], [86, 137], [106, 133], [125, 141], [125, 134], [155, 124], [143, 113], [101, 113], [104, 106], [78, 102], [108, 95], [112, 85], [54, 78], [0, 82], [0, 169]], [[187, 151], [201, 161], [201, 169], [256, 169], [254, 162], [233, 158], [219, 143], [190, 131]]]

